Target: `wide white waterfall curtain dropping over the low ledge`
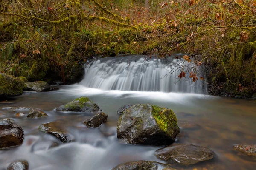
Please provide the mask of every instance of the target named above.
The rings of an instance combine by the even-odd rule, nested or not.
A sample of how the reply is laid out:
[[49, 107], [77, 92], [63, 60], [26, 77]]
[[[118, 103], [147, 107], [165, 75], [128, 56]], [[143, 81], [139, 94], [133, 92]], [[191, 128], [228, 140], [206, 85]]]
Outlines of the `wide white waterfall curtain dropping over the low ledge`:
[[145, 56], [111, 57], [96, 60], [85, 66], [85, 77], [80, 82], [88, 88], [120, 91], [161, 91], [207, 94], [206, 83], [198, 79], [179, 79], [180, 72], [186, 73], [196, 67], [198, 77], [203, 75], [202, 66], [186, 62], [180, 57], [159, 59]]

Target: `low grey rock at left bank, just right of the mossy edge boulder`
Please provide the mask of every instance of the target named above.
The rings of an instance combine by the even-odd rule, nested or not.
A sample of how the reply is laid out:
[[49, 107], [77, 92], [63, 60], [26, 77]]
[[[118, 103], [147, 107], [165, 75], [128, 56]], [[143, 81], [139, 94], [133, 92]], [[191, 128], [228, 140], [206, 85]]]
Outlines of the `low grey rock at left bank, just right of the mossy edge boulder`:
[[24, 91], [49, 91], [50, 85], [44, 81], [26, 82]]

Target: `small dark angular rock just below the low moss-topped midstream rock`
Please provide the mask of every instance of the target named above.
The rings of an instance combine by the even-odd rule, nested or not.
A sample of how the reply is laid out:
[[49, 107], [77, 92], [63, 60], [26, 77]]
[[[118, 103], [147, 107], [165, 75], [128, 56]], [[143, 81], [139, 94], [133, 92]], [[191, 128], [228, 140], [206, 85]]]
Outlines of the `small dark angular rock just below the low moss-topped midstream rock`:
[[98, 113], [93, 116], [91, 119], [87, 119], [84, 121], [84, 125], [88, 127], [99, 127], [102, 123], [105, 123], [108, 119], [108, 115], [105, 113]]

